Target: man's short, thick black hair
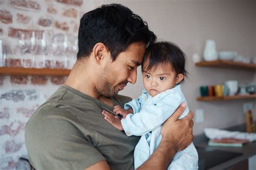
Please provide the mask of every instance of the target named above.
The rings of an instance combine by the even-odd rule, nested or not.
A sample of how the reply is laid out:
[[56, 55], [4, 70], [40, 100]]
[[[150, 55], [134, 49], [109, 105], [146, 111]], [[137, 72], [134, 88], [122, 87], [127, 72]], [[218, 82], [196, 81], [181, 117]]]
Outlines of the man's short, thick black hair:
[[77, 59], [89, 56], [98, 42], [110, 51], [112, 60], [133, 42], [152, 44], [156, 35], [147, 23], [129, 8], [120, 4], [102, 5], [80, 19]]

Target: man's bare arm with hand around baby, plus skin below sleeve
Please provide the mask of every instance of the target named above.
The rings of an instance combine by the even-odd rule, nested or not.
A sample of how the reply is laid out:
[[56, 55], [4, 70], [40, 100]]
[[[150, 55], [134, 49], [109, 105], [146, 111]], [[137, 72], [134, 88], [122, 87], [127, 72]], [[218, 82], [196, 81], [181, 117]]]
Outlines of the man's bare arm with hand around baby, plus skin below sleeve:
[[[177, 151], [184, 150], [193, 139], [192, 128], [193, 112], [183, 119], [178, 117], [183, 114], [186, 105], [181, 104], [174, 114], [164, 123], [161, 142], [151, 157], [138, 169], [167, 169]], [[110, 169], [106, 161], [100, 161], [86, 168], [86, 170]]]

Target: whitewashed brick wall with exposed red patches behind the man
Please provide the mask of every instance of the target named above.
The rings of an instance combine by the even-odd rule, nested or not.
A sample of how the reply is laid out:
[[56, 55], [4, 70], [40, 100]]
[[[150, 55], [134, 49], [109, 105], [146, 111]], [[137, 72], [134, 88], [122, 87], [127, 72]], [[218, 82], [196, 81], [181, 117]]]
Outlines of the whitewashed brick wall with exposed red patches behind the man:
[[[21, 66], [17, 32], [63, 33], [77, 36], [79, 19], [100, 5], [83, 0], [0, 0], [0, 39], [10, 48], [11, 66]], [[40, 56], [35, 56], [36, 60]], [[57, 56], [48, 56], [56, 58]], [[69, 60], [75, 58], [69, 56]], [[58, 65], [58, 63], [57, 63]], [[61, 66], [60, 66], [61, 67]], [[15, 169], [19, 157], [26, 155], [24, 127], [38, 108], [66, 77], [0, 76], [0, 169]]]

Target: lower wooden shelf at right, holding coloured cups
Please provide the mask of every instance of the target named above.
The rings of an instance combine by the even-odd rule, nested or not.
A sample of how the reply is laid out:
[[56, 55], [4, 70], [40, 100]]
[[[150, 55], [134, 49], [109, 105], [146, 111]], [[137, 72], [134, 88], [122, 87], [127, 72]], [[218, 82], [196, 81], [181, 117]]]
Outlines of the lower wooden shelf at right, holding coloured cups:
[[197, 101], [226, 101], [226, 100], [241, 100], [241, 99], [252, 99], [256, 98], [256, 94], [253, 95], [236, 95], [236, 96], [207, 96], [207, 97], [197, 97]]

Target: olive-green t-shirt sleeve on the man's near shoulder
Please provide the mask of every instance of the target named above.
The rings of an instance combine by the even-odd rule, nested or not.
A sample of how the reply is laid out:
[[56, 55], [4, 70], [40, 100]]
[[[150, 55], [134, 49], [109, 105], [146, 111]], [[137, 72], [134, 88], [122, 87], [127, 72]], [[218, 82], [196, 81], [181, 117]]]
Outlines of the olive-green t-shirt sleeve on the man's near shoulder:
[[81, 131], [79, 120], [58, 108], [41, 109], [25, 128], [25, 143], [36, 169], [84, 169], [106, 160], [93, 146], [93, 130]]

